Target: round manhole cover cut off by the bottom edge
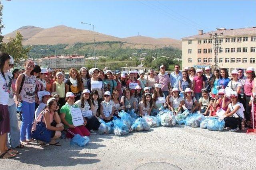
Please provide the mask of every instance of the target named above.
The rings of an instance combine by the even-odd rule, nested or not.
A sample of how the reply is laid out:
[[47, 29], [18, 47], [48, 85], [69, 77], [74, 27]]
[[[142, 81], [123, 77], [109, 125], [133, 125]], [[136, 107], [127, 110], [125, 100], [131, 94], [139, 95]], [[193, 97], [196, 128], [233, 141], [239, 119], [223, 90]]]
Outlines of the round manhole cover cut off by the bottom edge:
[[174, 164], [169, 164], [167, 162], [148, 162], [146, 164], [142, 164], [136, 168], [136, 170], [153, 170], [153, 169], [158, 169], [158, 170], [181, 170], [180, 167], [174, 165]]

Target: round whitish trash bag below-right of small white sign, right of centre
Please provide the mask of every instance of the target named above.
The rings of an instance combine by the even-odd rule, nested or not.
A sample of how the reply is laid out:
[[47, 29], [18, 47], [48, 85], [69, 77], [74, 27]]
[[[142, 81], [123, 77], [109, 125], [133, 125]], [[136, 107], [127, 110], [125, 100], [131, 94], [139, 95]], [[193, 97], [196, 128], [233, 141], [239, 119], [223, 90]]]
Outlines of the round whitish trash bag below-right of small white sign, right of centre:
[[162, 126], [176, 125], [175, 116], [169, 109], [159, 111], [157, 116], [159, 117]]

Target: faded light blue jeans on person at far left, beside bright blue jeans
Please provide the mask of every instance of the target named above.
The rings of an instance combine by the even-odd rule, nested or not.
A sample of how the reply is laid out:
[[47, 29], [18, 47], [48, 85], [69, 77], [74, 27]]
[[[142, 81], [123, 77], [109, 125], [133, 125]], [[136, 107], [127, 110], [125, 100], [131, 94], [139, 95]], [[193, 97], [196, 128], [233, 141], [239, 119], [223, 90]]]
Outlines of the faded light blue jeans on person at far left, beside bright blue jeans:
[[20, 145], [20, 128], [18, 127], [18, 118], [16, 105], [8, 107], [10, 117], [10, 133], [7, 134], [7, 147], [16, 148]]

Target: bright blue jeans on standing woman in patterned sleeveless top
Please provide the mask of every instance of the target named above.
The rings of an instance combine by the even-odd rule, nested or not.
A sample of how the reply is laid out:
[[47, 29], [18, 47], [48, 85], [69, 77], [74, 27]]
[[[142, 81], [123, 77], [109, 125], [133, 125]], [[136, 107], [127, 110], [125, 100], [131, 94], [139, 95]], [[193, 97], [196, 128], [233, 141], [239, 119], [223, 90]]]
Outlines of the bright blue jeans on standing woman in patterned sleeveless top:
[[35, 102], [22, 102], [22, 122], [20, 126], [20, 140], [31, 139], [31, 129], [35, 116]]

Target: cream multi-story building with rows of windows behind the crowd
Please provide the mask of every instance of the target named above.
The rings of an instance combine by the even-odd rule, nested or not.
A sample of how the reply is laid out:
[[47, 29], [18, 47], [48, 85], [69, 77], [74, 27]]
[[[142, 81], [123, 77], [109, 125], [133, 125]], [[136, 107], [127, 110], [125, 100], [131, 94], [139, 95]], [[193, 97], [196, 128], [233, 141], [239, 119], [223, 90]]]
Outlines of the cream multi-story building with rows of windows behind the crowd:
[[228, 72], [234, 69], [256, 67], [256, 27], [241, 29], [219, 28], [216, 31], [182, 38], [182, 67], [202, 68], [214, 66], [214, 39], [210, 34], [217, 33], [221, 42], [218, 50], [219, 68], [227, 68]]

